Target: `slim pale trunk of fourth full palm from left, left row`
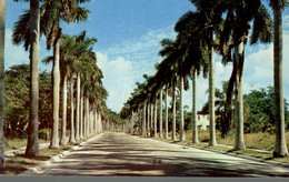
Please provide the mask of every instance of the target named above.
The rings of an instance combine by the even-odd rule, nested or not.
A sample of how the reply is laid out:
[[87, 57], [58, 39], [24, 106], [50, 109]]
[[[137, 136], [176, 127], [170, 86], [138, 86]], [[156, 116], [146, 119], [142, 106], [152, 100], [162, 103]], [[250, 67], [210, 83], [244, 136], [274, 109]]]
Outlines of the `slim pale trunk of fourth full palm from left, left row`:
[[76, 131], [74, 131], [74, 95], [73, 95], [73, 87], [74, 87], [74, 80], [73, 77], [71, 77], [70, 79], [70, 108], [71, 108], [71, 112], [70, 112], [70, 127], [71, 127], [71, 131], [70, 131], [70, 142], [74, 143], [76, 142]]

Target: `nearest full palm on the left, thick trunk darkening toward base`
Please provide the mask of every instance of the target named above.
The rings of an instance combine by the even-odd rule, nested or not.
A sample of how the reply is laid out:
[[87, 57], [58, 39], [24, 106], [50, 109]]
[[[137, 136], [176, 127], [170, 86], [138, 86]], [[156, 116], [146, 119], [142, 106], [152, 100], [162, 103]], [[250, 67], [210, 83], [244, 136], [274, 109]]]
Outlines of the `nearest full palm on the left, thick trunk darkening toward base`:
[[[18, 1], [18, 0], [16, 0]], [[30, 13], [31, 12], [31, 13]], [[30, 12], [20, 17], [13, 30], [13, 43], [24, 42], [24, 48], [30, 47], [30, 89], [29, 89], [29, 125], [27, 156], [39, 155], [38, 142], [38, 100], [39, 100], [39, 37], [40, 37], [40, 9], [39, 0], [30, 1]], [[22, 20], [22, 22], [21, 22]], [[27, 26], [29, 24], [29, 26]], [[29, 29], [24, 29], [24, 28]], [[23, 33], [24, 31], [24, 33]], [[20, 34], [17, 37], [16, 34]]]

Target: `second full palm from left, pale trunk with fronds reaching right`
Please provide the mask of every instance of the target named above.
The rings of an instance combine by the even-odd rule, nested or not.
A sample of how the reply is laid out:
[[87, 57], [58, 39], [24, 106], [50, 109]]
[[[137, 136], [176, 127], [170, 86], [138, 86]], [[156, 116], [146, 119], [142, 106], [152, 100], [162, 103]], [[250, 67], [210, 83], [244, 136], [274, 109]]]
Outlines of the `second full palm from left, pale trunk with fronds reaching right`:
[[[80, 10], [80, 11], [77, 11]], [[86, 21], [88, 10], [79, 7], [74, 1], [68, 0], [64, 3], [56, 3], [52, 0], [47, 0], [43, 4], [43, 21], [46, 27], [48, 49], [53, 47], [53, 65], [52, 65], [52, 109], [53, 109], [53, 130], [50, 148], [59, 148], [58, 139], [58, 121], [59, 121], [59, 85], [60, 85], [60, 42], [62, 30], [59, 28], [60, 20], [66, 22]]]

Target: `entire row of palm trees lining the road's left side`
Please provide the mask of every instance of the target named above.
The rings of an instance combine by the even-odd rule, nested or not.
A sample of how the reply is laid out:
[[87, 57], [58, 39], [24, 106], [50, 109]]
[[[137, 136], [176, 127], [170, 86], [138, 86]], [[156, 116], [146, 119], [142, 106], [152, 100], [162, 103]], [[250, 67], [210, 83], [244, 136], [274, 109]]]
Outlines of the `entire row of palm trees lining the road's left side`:
[[[63, 36], [61, 22], [73, 23], [86, 21], [89, 11], [80, 3], [90, 0], [43, 0], [40, 7], [39, 0], [30, 0], [30, 10], [22, 14], [14, 23], [12, 41], [16, 44], [23, 43], [30, 51], [30, 107], [27, 156], [37, 156], [39, 151], [38, 139], [38, 110], [39, 110], [39, 40], [40, 36], [47, 38], [47, 49], [53, 49], [53, 55], [43, 62], [52, 62], [52, 113], [53, 127], [50, 148], [59, 148], [67, 143], [67, 88], [70, 87], [70, 142], [81, 140], [94, 133], [102, 132], [102, 121], [107, 111], [106, 99], [108, 92], [102, 85], [101, 70], [96, 64], [96, 53], [92, 51], [97, 42], [94, 38], [87, 38], [86, 32], [79, 36]], [[3, 152], [3, 46], [4, 46], [4, 8], [6, 1], [0, 1], [1, 14], [1, 65], [0, 65], [0, 169], [4, 168]], [[3, 10], [3, 11], [2, 11]], [[74, 91], [74, 82], [77, 82]], [[60, 83], [62, 83], [62, 123], [59, 141], [59, 103]], [[76, 103], [74, 103], [76, 92]], [[76, 117], [74, 114], [76, 105]], [[76, 119], [76, 124], [74, 124]], [[108, 118], [110, 119], [110, 118]]]

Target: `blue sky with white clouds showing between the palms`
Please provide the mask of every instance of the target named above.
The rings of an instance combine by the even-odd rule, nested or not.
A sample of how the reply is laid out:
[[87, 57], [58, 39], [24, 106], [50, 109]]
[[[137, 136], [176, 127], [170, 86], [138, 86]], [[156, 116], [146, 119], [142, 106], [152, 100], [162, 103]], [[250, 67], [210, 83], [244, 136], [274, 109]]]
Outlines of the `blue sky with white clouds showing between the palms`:
[[[266, 1], [267, 2], [267, 1]], [[159, 42], [163, 38], [175, 39], [175, 23], [189, 10], [195, 10], [189, 0], [93, 0], [87, 3], [91, 13], [86, 23], [61, 24], [63, 33], [78, 34], [87, 30], [88, 37], [98, 39], [94, 47], [98, 62], [104, 79], [103, 84], [109, 92], [107, 104], [113, 111], [120, 111], [123, 102], [142, 82], [142, 75], [155, 73], [155, 63], [160, 62]], [[29, 63], [28, 52], [22, 47], [11, 43], [13, 23], [27, 2], [7, 2], [6, 31], [6, 69], [12, 64]], [[46, 50], [46, 39], [41, 38], [40, 60], [52, 54]], [[283, 84], [285, 98], [289, 100], [289, 12], [283, 13]], [[272, 44], [246, 46], [246, 63], [243, 73], [243, 93], [252, 89], [273, 84], [272, 80]], [[16, 53], [17, 52], [17, 53]], [[231, 65], [222, 65], [216, 55], [216, 87], [229, 79]], [[51, 70], [51, 65], [40, 63], [41, 70]], [[198, 109], [207, 101], [205, 94], [208, 80], [198, 79]], [[191, 108], [191, 90], [185, 94], [185, 103]]]

